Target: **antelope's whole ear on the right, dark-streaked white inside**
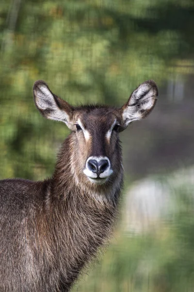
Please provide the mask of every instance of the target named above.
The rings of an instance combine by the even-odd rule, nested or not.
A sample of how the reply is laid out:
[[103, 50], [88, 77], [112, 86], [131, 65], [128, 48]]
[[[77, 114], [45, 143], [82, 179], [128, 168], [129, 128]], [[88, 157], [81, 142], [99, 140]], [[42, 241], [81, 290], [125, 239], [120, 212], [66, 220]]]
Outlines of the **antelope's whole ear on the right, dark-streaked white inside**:
[[153, 110], [158, 96], [158, 88], [153, 80], [145, 81], [132, 92], [128, 102], [121, 108], [122, 129], [129, 123], [145, 118]]

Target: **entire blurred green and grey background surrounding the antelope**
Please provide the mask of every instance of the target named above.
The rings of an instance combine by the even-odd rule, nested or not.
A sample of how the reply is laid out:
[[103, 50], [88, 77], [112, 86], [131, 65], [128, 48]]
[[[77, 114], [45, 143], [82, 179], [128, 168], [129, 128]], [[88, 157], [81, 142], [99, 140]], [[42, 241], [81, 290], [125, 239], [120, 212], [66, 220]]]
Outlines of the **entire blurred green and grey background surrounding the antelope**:
[[0, 179], [53, 172], [68, 134], [40, 116], [35, 80], [69, 103], [160, 95], [121, 133], [126, 173], [115, 238], [74, 292], [194, 291], [194, 1], [1, 0]]

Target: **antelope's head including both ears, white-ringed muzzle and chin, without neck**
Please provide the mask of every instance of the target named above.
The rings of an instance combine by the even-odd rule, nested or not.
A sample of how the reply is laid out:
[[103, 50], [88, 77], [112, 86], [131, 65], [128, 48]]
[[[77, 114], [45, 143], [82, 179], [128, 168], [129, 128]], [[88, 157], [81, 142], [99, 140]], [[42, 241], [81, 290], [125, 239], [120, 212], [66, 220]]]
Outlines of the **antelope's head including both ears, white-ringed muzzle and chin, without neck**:
[[36, 107], [44, 117], [62, 121], [71, 129], [69, 160], [77, 180], [89, 185], [108, 185], [122, 169], [119, 132], [151, 112], [158, 89], [152, 80], [142, 83], [121, 108], [73, 107], [53, 94], [42, 80], [34, 83], [33, 94]]

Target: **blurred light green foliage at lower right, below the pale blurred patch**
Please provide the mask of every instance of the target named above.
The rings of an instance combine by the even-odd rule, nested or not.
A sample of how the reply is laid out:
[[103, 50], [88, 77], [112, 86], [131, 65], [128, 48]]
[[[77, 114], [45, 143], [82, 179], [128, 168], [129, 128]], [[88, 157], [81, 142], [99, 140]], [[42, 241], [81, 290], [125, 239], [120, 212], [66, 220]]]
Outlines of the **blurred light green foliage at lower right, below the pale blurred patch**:
[[193, 292], [193, 192], [194, 185], [172, 188], [177, 207], [154, 232], [131, 235], [121, 226], [104, 259], [73, 292]]

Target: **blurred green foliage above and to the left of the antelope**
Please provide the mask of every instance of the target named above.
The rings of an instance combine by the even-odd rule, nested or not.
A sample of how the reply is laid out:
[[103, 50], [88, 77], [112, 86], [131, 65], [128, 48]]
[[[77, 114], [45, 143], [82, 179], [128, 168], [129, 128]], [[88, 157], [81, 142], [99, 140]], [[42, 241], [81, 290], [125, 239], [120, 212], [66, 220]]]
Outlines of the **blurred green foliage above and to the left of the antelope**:
[[1, 0], [0, 178], [50, 175], [67, 134], [36, 111], [35, 80], [72, 104], [122, 105], [192, 70], [193, 15], [193, 0]]

